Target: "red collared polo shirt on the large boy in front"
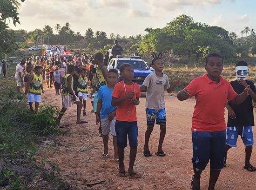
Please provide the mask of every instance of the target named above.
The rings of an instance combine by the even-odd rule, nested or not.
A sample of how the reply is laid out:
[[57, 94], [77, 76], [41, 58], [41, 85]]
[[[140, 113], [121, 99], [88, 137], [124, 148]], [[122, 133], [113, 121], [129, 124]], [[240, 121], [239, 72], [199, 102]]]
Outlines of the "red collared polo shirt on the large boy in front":
[[190, 98], [195, 96], [191, 131], [226, 130], [225, 105], [227, 100], [237, 96], [229, 81], [220, 76], [220, 82], [216, 84], [205, 74], [194, 79], [185, 89], [189, 90]]

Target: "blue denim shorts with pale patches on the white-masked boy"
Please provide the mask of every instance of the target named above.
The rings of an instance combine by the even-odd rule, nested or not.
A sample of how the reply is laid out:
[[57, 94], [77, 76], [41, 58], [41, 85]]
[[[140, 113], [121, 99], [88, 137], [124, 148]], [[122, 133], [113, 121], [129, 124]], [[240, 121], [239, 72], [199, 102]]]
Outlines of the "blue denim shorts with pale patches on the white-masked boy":
[[227, 128], [227, 144], [231, 147], [236, 147], [238, 135], [241, 136], [244, 146], [254, 144], [252, 127], [228, 127]]

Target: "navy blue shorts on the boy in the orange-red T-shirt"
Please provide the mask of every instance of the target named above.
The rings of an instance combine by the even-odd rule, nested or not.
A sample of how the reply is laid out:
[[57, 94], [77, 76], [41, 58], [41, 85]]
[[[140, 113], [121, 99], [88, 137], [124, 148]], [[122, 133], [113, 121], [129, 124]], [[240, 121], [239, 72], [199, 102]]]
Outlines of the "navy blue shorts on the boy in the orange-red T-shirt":
[[115, 133], [117, 146], [120, 148], [127, 147], [127, 135], [130, 146], [138, 146], [138, 125], [137, 121], [115, 121]]

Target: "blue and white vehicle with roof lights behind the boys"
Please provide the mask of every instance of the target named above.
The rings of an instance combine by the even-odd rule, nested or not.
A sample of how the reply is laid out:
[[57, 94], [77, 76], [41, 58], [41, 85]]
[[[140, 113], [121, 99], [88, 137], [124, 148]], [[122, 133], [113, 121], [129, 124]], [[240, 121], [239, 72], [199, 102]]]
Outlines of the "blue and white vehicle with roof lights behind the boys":
[[[139, 56], [123, 56], [123, 55], [118, 55], [116, 58], [113, 58], [110, 60], [108, 63], [108, 70], [109, 69], [116, 69], [119, 73], [119, 68], [123, 63], [129, 63], [134, 69], [134, 78], [133, 82], [139, 84], [140, 86], [142, 85], [143, 81], [146, 79], [146, 77], [152, 73], [150, 71], [150, 68], [146, 64], [146, 62], [143, 59], [140, 59]], [[121, 76], [120, 80], [121, 79]]]

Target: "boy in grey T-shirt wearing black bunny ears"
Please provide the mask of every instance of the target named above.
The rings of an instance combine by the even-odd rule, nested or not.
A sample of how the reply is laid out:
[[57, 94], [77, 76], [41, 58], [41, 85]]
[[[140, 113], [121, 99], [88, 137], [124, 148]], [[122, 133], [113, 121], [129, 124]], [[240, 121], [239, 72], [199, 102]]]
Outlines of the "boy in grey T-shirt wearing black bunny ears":
[[[162, 72], [164, 69], [164, 63], [161, 59], [162, 53], [159, 53], [158, 57], [153, 53], [154, 59], [152, 60], [154, 73], [149, 74], [144, 80], [141, 86], [141, 92], [147, 88], [146, 96], [146, 113], [147, 113], [147, 131], [145, 132], [145, 144], [144, 144], [144, 156], [151, 157], [152, 154], [148, 148], [148, 141], [153, 131], [154, 125], [160, 125], [160, 138], [158, 144], [158, 151], [155, 155], [164, 157], [165, 153], [162, 151], [162, 143], [166, 133], [166, 111], [164, 103], [164, 91], [168, 93], [180, 85], [179, 80], [175, 80], [172, 86], [169, 85], [169, 78]], [[157, 98], [156, 98], [157, 97]], [[156, 120], [156, 122], [155, 122]]]

